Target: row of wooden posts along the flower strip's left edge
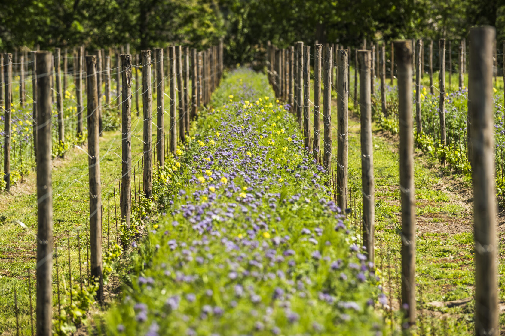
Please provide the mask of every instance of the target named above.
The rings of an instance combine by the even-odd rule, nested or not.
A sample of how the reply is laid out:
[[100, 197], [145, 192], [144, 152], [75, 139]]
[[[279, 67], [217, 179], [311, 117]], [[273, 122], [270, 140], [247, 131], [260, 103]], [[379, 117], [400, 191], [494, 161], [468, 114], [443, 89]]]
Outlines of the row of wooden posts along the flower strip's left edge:
[[[191, 111], [184, 109], [183, 83], [178, 80], [177, 86], [173, 82], [176, 77], [176, 69], [181, 72], [181, 46], [170, 47], [170, 152], [176, 151], [176, 101], [175, 91], [179, 92], [179, 136], [184, 140], [184, 134], [189, 127], [184, 122], [189, 122], [191, 117], [196, 116], [198, 103], [203, 105], [210, 103], [212, 92], [219, 85], [223, 74], [223, 45], [212, 47], [204, 52], [197, 53], [192, 49], [191, 73], [192, 98]], [[83, 55], [82, 49], [78, 52]], [[142, 100], [143, 100], [143, 180], [144, 194], [151, 197], [153, 182], [153, 148], [151, 147], [151, 124], [153, 122], [153, 111], [151, 101], [151, 51], [141, 52], [142, 55]], [[6, 73], [12, 74], [12, 55], [6, 54]], [[156, 142], [158, 152], [158, 168], [163, 169], [165, 152], [163, 148], [163, 106], [164, 106], [164, 71], [163, 71], [163, 49], [156, 49], [156, 77], [157, 77], [157, 123], [160, 133], [158, 137], [161, 141]], [[201, 56], [201, 58], [199, 57]], [[53, 74], [53, 54], [48, 51], [35, 52], [35, 86], [36, 86], [36, 144], [37, 144], [37, 300], [36, 300], [36, 334], [50, 335], [52, 332], [52, 259], [53, 259], [53, 197], [52, 197], [52, 76]], [[198, 58], [197, 58], [198, 57]], [[177, 63], [176, 64], [176, 58]], [[81, 58], [79, 58], [81, 59]], [[122, 170], [121, 170], [121, 196], [120, 209], [121, 221], [129, 229], [131, 214], [131, 111], [132, 111], [132, 68], [134, 66], [131, 54], [121, 54], [121, 77], [122, 77], [122, 101], [121, 101], [121, 131], [122, 131]], [[197, 60], [203, 59], [203, 66], [197, 69]], [[186, 58], [187, 60], [187, 58]], [[89, 169], [89, 224], [90, 224], [90, 274], [91, 278], [99, 284], [97, 300], [103, 300], [102, 281], [102, 190], [100, 184], [100, 164], [99, 164], [99, 108], [98, 103], [98, 62], [96, 55], [86, 56], [86, 92], [87, 92], [87, 140], [88, 140], [88, 169]], [[187, 60], [188, 61], [188, 60]], [[78, 62], [80, 63], [80, 62]], [[119, 71], [118, 71], [119, 72]], [[80, 77], [80, 72], [78, 72]], [[9, 97], [10, 83], [6, 81], [6, 97]], [[9, 88], [9, 89], [7, 89]], [[187, 88], [187, 86], [186, 86]], [[199, 89], [200, 88], [200, 89]], [[79, 88], [78, 88], [79, 90]], [[202, 95], [200, 95], [200, 90]], [[187, 94], [186, 94], [187, 95]], [[200, 97], [200, 98], [198, 98]], [[201, 99], [201, 100], [200, 100]], [[8, 107], [10, 105], [7, 105]], [[6, 108], [9, 111], [10, 108]], [[7, 113], [7, 112], [6, 112]], [[189, 115], [190, 114], [190, 115]], [[189, 115], [189, 116], [186, 116]], [[182, 134], [182, 135], [181, 135]], [[184, 143], [184, 142], [183, 142]], [[7, 147], [6, 147], [7, 148]]]

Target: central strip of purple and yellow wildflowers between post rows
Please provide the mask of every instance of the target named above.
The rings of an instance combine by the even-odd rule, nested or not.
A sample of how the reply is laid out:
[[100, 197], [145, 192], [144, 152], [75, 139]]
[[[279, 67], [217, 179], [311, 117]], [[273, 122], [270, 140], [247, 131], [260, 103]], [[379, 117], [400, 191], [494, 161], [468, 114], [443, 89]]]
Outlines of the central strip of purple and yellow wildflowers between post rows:
[[107, 334], [382, 334], [374, 265], [272, 96], [239, 69], [199, 115], [157, 182], [166, 214], [133, 243]]

